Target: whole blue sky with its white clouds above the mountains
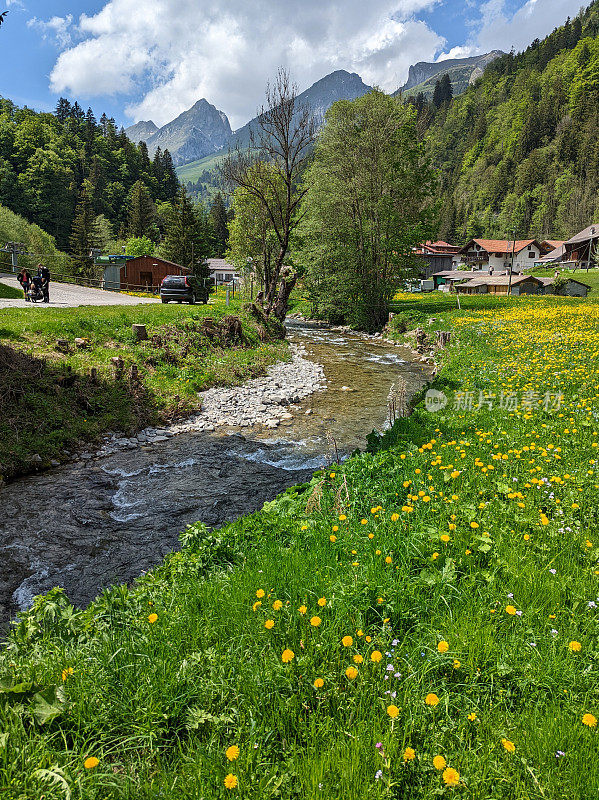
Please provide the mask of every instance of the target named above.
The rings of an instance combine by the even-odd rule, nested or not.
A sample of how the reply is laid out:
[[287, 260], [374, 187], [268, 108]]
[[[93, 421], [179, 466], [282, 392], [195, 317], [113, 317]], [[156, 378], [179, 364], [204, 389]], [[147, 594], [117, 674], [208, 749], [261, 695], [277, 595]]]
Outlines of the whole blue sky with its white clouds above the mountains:
[[517, 50], [572, 0], [0, 0], [0, 95], [51, 109], [60, 95], [119, 123], [161, 125], [206, 97], [233, 127], [279, 65], [300, 89], [334, 69], [392, 91], [408, 67]]

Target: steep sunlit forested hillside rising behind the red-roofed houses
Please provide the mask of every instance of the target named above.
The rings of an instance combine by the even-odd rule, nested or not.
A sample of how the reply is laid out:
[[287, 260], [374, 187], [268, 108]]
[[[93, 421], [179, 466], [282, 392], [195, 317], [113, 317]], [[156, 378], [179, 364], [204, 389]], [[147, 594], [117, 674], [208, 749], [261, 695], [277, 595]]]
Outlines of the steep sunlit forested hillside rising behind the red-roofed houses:
[[[599, 3], [502, 56], [421, 125], [442, 173], [440, 236], [563, 238], [599, 219]], [[416, 102], [416, 101], [414, 101]]]

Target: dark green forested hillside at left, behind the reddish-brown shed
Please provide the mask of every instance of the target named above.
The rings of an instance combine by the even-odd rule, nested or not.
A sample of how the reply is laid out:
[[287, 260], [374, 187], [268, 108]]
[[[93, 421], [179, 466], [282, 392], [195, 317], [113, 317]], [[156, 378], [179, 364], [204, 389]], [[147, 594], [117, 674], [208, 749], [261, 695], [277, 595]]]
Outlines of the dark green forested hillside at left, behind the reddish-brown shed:
[[0, 98], [0, 204], [54, 236], [61, 249], [74, 249], [77, 217], [93, 217], [105, 239], [125, 232], [138, 181], [149, 199], [174, 200], [179, 184], [168, 151], [150, 160], [146, 146], [130, 142], [114, 120], [102, 115], [98, 122], [78, 103], [61, 99], [48, 114]]

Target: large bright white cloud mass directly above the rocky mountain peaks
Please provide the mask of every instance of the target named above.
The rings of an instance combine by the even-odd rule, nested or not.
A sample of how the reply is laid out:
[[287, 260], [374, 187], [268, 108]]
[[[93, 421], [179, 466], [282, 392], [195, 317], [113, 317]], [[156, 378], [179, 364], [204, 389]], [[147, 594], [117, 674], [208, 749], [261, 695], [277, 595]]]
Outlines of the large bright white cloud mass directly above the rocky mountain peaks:
[[395, 90], [411, 63], [444, 45], [413, 16], [438, 2], [108, 0], [79, 19], [80, 41], [58, 57], [51, 88], [133, 96], [132, 119], [159, 125], [206, 97], [236, 127], [254, 115], [280, 65], [302, 89], [347, 69]]

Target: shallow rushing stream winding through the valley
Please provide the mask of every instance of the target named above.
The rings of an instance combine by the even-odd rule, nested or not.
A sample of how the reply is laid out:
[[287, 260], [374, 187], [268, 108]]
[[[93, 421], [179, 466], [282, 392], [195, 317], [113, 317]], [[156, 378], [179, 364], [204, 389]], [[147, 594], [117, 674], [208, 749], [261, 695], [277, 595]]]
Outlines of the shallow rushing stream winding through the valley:
[[133, 580], [178, 547], [187, 524], [220, 525], [254, 511], [333, 460], [327, 434], [341, 456], [364, 448], [370, 431], [386, 424], [397, 377], [410, 395], [427, 380], [402, 348], [307, 325], [290, 327], [290, 338], [323, 365], [327, 388], [276, 431], [180, 434], [5, 487], [0, 620], [53, 586], [81, 606], [103, 587]]

